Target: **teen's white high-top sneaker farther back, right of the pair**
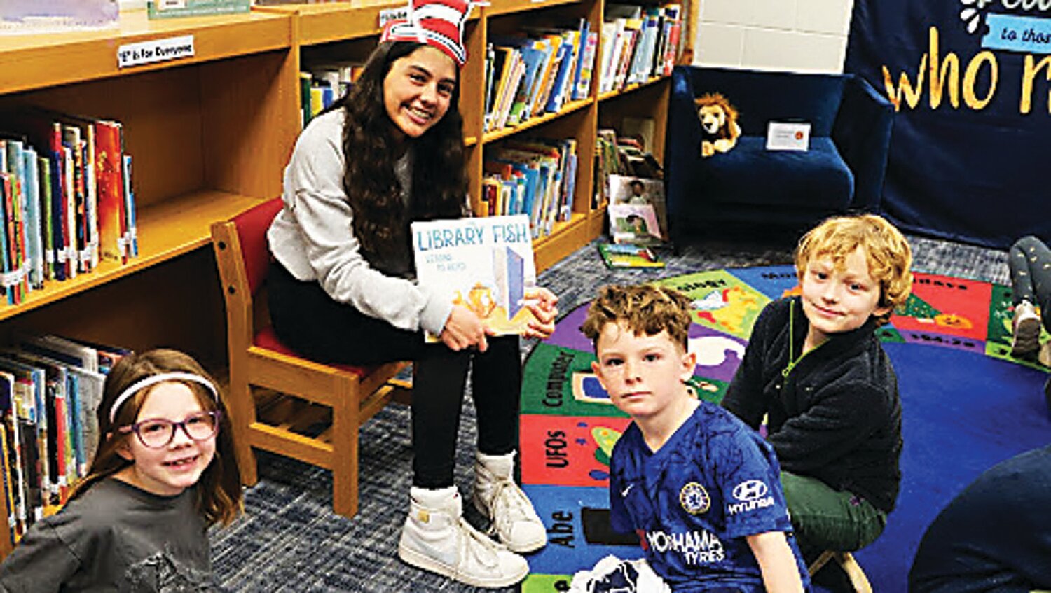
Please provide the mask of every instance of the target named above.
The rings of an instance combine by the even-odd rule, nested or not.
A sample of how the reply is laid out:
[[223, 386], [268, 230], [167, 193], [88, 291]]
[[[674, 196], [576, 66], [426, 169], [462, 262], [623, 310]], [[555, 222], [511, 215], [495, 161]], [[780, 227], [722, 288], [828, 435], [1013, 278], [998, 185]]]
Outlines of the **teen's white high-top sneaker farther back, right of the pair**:
[[474, 506], [493, 521], [489, 528], [509, 549], [526, 553], [548, 544], [548, 532], [526, 492], [515, 484], [515, 453], [478, 453], [474, 464]]

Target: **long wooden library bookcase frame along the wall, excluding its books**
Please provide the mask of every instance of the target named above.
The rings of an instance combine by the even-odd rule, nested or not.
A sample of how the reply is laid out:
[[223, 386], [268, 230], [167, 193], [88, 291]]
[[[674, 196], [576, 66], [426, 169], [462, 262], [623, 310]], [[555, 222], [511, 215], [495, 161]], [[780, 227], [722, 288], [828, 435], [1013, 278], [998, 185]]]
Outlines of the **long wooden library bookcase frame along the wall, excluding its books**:
[[[465, 31], [460, 112], [470, 195], [476, 214], [486, 152], [532, 135], [577, 142], [580, 166], [568, 220], [534, 240], [537, 271], [597, 237], [605, 204], [593, 200], [596, 132], [624, 118], [657, 122], [662, 158], [669, 79], [586, 98], [521, 125], [483, 131], [486, 47], [526, 26], [603, 20], [604, 0], [492, 0]], [[148, 20], [121, 14], [105, 30], [0, 37], [0, 111], [35, 106], [120, 121], [133, 155], [138, 258], [104, 261], [91, 273], [45, 284], [17, 305], [0, 305], [0, 342], [17, 332], [55, 333], [132, 350], [183, 350], [224, 373], [226, 327], [211, 250], [212, 223], [281, 195], [282, 172], [300, 133], [300, 71], [332, 56], [363, 59], [375, 46], [380, 13], [401, 0], [254, 6], [248, 14]], [[696, 5], [684, 6], [692, 58]], [[186, 48], [192, 42], [192, 51]], [[130, 61], [121, 51], [152, 51]], [[149, 55], [147, 52], [147, 55]], [[6, 514], [0, 502], [0, 511]], [[0, 556], [9, 544], [0, 537]]]

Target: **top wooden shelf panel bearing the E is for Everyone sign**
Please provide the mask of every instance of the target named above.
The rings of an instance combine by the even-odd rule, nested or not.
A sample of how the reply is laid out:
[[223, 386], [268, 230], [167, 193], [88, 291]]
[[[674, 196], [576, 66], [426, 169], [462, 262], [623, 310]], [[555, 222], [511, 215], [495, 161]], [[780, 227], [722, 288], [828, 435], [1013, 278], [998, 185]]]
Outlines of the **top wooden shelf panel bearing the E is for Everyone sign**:
[[[120, 28], [0, 37], [0, 94], [287, 48], [291, 29], [288, 15], [149, 20], [146, 10], [130, 10], [121, 14]], [[190, 58], [117, 67], [121, 45], [185, 35], [193, 36]]]

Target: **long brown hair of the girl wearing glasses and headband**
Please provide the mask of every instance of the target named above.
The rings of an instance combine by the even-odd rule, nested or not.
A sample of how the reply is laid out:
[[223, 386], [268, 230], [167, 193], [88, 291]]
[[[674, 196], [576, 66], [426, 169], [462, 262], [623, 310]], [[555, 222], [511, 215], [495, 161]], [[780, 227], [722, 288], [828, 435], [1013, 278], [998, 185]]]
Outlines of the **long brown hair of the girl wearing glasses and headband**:
[[229, 525], [244, 509], [241, 493], [241, 474], [238, 470], [238, 458], [233, 449], [233, 425], [226, 401], [219, 384], [189, 355], [174, 350], [157, 348], [143, 353], [130, 354], [117, 362], [102, 391], [102, 402], [99, 404], [99, 448], [91, 460], [91, 467], [74, 489], [71, 497], [76, 499], [89, 490], [102, 480], [128, 467], [133, 462], [128, 461], [118, 452], [121, 444], [135, 435], [122, 435], [121, 426], [129, 426], [136, 422], [139, 410], [142, 409], [151, 389], [140, 389], [135, 396], [121, 404], [114, 421], [109, 421], [109, 408], [117, 397], [133, 383], [160, 375], [162, 373], [190, 373], [207, 379], [220, 398], [217, 400], [204, 385], [191, 381], [178, 381], [189, 387], [197, 397], [201, 407], [206, 410], [219, 410], [222, 414], [219, 432], [215, 435], [215, 454], [207, 469], [201, 473], [197, 484], [198, 513], [207, 525], [222, 523]]

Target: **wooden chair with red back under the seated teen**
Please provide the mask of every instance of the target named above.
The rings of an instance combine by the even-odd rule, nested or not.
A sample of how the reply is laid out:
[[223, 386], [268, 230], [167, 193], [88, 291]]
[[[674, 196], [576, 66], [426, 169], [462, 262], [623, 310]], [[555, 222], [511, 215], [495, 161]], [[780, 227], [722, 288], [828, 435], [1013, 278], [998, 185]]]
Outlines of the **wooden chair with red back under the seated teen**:
[[251, 486], [257, 480], [252, 447], [324, 467], [332, 471], [333, 510], [350, 517], [357, 513], [358, 428], [395, 396], [406, 401], [407, 384], [392, 380], [408, 363], [320, 364], [281, 343], [264, 291], [266, 231], [281, 206], [274, 198], [211, 226], [226, 299], [229, 408], [241, 481]]

